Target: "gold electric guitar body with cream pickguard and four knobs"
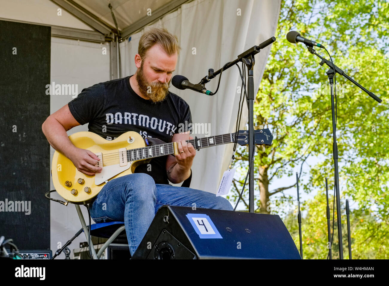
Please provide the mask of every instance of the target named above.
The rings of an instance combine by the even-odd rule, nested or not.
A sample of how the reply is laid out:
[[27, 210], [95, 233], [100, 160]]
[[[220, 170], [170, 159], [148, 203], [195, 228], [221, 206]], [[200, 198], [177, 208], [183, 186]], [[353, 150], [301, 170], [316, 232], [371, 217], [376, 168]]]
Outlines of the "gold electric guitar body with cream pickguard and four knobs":
[[[70, 135], [69, 139], [74, 146], [97, 154], [100, 161], [96, 166], [103, 168], [102, 173], [96, 173], [93, 176], [85, 175], [77, 170], [72, 161], [60, 152], [55, 151], [51, 169], [54, 188], [61, 197], [73, 204], [89, 204], [93, 202], [97, 194], [105, 186], [105, 181], [133, 174], [135, 168], [140, 163], [148, 161], [143, 159], [120, 164], [120, 153], [118, 150], [123, 148], [129, 150], [146, 146], [143, 137], [137, 132], [129, 131], [123, 133], [111, 141], [93, 132], [77, 132]], [[103, 155], [99, 156], [99, 153]], [[103, 161], [103, 164], [99, 165], [101, 161]], [[71, 182], [70, 185], [69, 182]], [[84, 191], [86, 187], [90, 188], [90, 190], [87, 189], [87, 191], [89, 190], [88, 193]], [[76, 191], [72, 193], [72, 190]]]

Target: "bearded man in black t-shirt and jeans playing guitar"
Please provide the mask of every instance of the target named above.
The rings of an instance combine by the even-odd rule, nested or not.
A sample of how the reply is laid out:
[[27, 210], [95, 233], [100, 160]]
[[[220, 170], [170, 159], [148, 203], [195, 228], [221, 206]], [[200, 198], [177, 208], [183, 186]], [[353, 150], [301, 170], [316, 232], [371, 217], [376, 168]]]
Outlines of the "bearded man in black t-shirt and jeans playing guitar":
[[233, 210], [223, 197], [169, 184], [191, 175], [196, 154], [192, 144], [186, 143], [193, 139], [191, 130], [179, 133], [178, 128], [192, 123], [189, 105], [168, 90], [179, 49], [176, 36], [165, 29], [150, 29], [139, 40], [135, 75], [83, 89], [42, 125], [51, 146], [86, 175], [101, 172], [102, 168], [95, 166], [100, 159], [70, 142], [66, 132], [74, 126], [88, 123], [89, 132], [107, 140], [135, 131], [145, 139], [178, 142], [178, 155], [153, 158], [149, 164], [138, 166], [134, 174], [108, 181], [90, 205], [96, 223], [124, 221], [131, 255], [163, 205], [192, 207], [195, 203], [199, 208]]

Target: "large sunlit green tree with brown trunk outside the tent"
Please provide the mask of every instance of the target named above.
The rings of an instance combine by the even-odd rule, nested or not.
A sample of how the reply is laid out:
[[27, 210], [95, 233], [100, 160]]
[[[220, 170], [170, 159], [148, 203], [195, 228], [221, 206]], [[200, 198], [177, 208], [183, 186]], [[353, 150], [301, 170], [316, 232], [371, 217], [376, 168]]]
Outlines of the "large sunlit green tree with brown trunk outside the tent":
[[[331, 178], [329, 189], [333, 189], [328, 67], [321, 67], [320, 59], [309, 53], [304, 44], [287, 42], [286, 34], [291, 30], [326, 46], [338, 67], [383, 100], [378, 104], [337, 74], [336, 136], [341, 200], [350, 198], [356, 202], [358, 213], [354, 210], [355, 215], [368, 213], [364, 221], [387, 231], [389, 153], [386, 146], [389, 139], [386, 133], [389, 119], [385, 99], [389, 75], [389, 3], [385, 0], [282, 0], [275, 33], [277, 41], [272, 45], [254, 103], [254, 125], [269, 128], [274, 136], [272, 146], [266, 147], [265, 152], [258, 150], [254, 161], [256, 211], [270, 213], [272, 210], [268, 206], [272, 196], [291, 199], [283, 192], [295, 187], [292, 183], [296, 181], [294, 168], [300, 168], [308, 156], [317, 157], [319, 162], [310, 166], [307, 174], [301, 174], [300, 170], [300, 175], [307, 178], [301, 189], [307, 193], [322, 191], [324, 177]], [[329, 59], [323, 49], [317, 48], [317, 53]], [[228, 197], [234, 202], [244, 182], [247, 150], [238, 149], [236, 158], [236, 165], [241, 167], [233, 181], [233, 193]], [[271, 182], [287, 176], [292, 178], [291, 183], [269, 190]], [[248, 192], [245, 192], [242, 200], [248, 208], [247, 199]], [[316, 219], [312, 210], [306, 211], [309, 216], [305, 219]], [[344, 225], [343, 216], [342, 222]], [[308, 225], [315, 233], [319, 231], [314, 221]], [[356, 230], [355, 239], [359, 239], [356, 245], [359, 246], [365, 236], [372, 234], [362, 225]], [[337, 239], [337, 233], [334, 240], [335, 237]], [[372, 241], [376, 244], [374, 247], [385, 245], [377, 238]], [[371, 253], [367, 248], [365, 250]], [[360, 257], [368, 255], [364, 253], [360, 252]]]

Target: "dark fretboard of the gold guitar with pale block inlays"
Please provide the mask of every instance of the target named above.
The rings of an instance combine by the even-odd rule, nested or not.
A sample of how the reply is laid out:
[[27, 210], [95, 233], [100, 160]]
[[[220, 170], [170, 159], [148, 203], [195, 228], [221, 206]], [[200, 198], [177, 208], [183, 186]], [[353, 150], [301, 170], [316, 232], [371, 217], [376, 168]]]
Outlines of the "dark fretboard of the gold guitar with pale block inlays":
[[[235, 141], [235, 133], [186, 140], [196, 149], [223, 145]], [[174, 154], [174, 142], [127, 150], [127, 161], [136, 161]]]

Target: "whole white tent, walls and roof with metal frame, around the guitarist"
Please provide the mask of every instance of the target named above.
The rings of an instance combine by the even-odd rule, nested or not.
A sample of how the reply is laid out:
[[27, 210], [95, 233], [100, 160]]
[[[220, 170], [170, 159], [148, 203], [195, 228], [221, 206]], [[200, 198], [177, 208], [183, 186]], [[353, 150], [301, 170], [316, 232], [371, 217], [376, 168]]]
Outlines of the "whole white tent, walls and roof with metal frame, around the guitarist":
[[[134, 74], [138, 41], [146, 27], [164, 27], [177, 35], [182, 49], [174, 74], [185, 75], [196, 83], [208, 74], [209, 68], [218, 70], [238, 54], [274, 36], [280, 11], [280, 0], [109, 2], [123, 38], [120, 43], [106, 0], [2, 0], [0, 19], [52, 26], [51, 82], [77, 84], [80, 93], [97, 82]], [[103, 48], [107, 54], [102, 53]], [[254, 90], [258, 90], [269, 51], [270, 46], [256, 55]], [[218, 76], [207, 84], [207, 89], [215, 91], [217, 81]], [[174, 87], [170, 90], [189, 104], [193, 123], [204, 126], [198, 137], [205, 137], [235, 131], [240, 86], [238, 69], [231, 67], [223, 72], [219, 91], [213, 97]], [[70, 100], [72, 95], [51, 95], [51, 113]], [[241, 129], [246, 122], [247, 111], [242, 116]], [[77, 126], [68, 135], [86, 130], [87, 125]], [[196, 153], [191, 188], [216, 193], [221, 175], [230, 163], [232, 145]], [[51, 147], [51, 158], [53, 153]], [[51, 189], [54, 189], [52, 183]], [[85, 209], [83, 212], [87, 217]], [[79, 228], [74, 207], [59, 207], [51, 202], [53, 252], [58, 242], [65, 243]], [[73, 245], [84, 240], [79, 236]]]

